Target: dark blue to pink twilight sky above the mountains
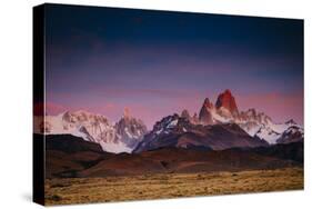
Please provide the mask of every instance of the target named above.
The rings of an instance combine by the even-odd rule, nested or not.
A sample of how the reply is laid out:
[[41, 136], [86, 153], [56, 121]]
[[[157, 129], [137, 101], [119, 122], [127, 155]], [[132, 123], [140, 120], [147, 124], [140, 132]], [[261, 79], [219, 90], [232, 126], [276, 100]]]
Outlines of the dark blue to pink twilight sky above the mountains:
[[303, 21], [48, 6], [47, 111], [128, 108], [148, 128], [230, 89], [239, 110], [303, 125]]

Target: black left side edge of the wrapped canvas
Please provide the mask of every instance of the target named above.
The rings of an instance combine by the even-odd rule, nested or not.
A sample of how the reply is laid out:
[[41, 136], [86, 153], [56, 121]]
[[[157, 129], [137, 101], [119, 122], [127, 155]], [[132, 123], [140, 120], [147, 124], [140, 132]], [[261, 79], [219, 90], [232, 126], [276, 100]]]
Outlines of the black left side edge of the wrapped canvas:
[[[44, 104], [44, 4], [32, 9], [32, 93], [33, 116], [44, 117], [44, 108], [34, 110], [34, 103]], [[36, 112], [34, 112], [36, 111]], [[38, 112], [40, 111], [40, 112]], [[33, 117], [34, 120], [34, 117]], [[34, 121], [33, 121], [34, 122]], [[34, 123], [33, 123], [34, 128]], [[32, 200], [44, 205], [44, 136], [32, 138]]]

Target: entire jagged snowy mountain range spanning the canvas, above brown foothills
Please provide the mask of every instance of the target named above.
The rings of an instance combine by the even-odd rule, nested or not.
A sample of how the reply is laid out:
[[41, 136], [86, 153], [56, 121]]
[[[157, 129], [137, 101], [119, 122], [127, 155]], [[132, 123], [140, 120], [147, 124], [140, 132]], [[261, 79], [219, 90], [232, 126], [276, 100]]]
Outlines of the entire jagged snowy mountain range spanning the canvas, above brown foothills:
[[[255, 109], [240, 111], [230, 90], [213, 104], [205, 98], [199, 113], [188, 110], [165, 116], [148, 131], [141, 119], [125, 109], [115, 123], [102, 115], [67, 111], [34, 118], [34, 132], [72, 135], [95, 142], [107, 152], [142, 152], [167, 147], [204, 150], [268, 147], [274, 143], [303, 142], [303, 127], [289, 120], [274, 123]], [[64, 139], [66, 140], [66, 139]]]

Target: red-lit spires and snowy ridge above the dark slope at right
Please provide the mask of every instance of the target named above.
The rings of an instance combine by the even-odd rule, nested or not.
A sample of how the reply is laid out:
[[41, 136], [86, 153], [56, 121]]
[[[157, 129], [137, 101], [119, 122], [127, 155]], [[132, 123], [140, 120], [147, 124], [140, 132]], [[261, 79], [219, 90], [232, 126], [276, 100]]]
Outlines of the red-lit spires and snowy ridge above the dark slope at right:
[[[197, 121], [193, 120], [193, 122]], [[218, 97], [215, 104], [207, 98], [199, 115], [201, 125], [236, 123], [251, 137], [276, 143], [282, 140], [283, 133], [295, 135], [296, 139], [303, 139], [303, 128], [292, 119], [284, 123], [274, 123], [264, 112], [255, 109], [239, 111], [234, 97], [230, 90], [225, 90]], [[293, 131], [290, 131], [293, 130]]]

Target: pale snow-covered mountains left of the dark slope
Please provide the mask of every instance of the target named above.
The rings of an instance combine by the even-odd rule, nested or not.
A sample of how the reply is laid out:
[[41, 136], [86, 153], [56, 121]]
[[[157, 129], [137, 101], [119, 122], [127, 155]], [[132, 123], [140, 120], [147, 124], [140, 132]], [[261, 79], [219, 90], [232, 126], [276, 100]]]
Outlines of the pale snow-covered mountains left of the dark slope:
[[58, 116], [34, 119], [34, 132], [44, 135], [73, 135], [100, 143], [104, 151], [131, 152], [147, 133], [142, 120], [124, 115], [113, 125], [105, 116], [84, 110], [66, 111]]

